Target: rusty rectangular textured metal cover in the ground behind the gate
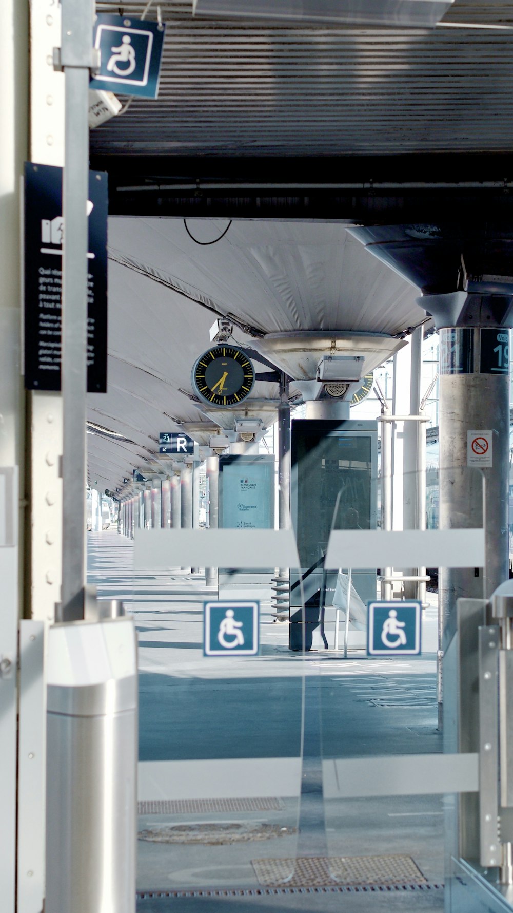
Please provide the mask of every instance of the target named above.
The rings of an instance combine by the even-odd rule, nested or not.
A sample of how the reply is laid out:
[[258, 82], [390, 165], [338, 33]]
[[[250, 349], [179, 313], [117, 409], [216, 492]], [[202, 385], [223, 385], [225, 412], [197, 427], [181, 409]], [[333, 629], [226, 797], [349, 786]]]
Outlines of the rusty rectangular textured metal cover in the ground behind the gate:
[[411, 856], [404, 855], [254, 859], [252, 865], [259, 884], [264, 886], [426, 884]]

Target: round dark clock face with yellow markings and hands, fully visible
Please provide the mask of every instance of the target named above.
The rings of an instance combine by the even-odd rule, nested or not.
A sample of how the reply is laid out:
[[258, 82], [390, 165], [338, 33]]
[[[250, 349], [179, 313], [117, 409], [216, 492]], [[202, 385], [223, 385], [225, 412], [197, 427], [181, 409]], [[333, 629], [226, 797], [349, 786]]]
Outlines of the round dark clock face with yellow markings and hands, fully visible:
[[215, 346], [194, 364], [191, 383], [198, 396], [218, 409], [242, 403], [255, 383], [255, 371], [246, 352], [230, 345]]

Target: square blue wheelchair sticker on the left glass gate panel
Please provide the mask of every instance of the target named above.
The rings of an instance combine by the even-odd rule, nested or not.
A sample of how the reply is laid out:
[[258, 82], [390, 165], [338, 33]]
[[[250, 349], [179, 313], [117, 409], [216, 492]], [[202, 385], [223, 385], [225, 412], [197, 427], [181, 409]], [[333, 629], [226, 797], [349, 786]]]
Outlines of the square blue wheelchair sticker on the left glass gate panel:
[[257, 656], [259, 603], [204, 603], [204, 656]]

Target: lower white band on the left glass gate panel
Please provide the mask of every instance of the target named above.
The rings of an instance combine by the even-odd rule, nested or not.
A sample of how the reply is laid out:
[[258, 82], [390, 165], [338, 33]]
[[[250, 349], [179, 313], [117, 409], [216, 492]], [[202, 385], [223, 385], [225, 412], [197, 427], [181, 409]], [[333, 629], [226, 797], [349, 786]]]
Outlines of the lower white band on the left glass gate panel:
[[140, 761], [138, 800], [290, 798], [301, 789], [300, 758]]

